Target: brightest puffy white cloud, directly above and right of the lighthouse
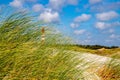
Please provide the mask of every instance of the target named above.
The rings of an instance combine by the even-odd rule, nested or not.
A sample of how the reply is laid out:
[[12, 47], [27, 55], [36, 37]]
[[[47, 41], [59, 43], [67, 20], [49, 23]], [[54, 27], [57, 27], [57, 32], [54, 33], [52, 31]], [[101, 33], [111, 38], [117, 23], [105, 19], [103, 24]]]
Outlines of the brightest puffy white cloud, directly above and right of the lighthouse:
[[59, 22], [59, 13], [52, 12], [51, 9], [46, 9], [39, 15], [38, 19], [45, 23]]

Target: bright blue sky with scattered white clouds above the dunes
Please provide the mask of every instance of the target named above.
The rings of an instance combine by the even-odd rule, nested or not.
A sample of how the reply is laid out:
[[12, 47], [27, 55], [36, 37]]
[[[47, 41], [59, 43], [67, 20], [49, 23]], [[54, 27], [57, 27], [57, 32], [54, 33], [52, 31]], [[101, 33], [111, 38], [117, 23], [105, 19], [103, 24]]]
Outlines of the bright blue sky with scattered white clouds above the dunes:
[[0, 0], [5, 7], [26, 9], [74, 43], [120, 46], [120, 0]]

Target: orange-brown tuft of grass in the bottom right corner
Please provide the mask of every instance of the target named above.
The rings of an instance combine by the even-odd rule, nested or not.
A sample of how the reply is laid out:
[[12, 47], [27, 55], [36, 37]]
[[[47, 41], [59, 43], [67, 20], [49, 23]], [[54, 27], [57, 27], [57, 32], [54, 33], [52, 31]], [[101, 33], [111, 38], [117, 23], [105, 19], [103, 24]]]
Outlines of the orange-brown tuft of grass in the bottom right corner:
[[120, 80], [120, 60], [112, 59], [98, 70], [102, 80]]

